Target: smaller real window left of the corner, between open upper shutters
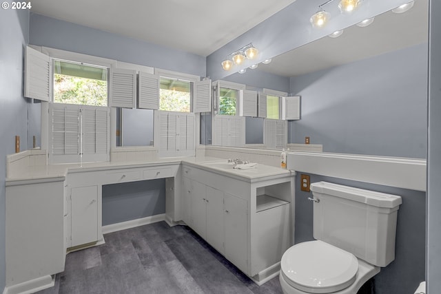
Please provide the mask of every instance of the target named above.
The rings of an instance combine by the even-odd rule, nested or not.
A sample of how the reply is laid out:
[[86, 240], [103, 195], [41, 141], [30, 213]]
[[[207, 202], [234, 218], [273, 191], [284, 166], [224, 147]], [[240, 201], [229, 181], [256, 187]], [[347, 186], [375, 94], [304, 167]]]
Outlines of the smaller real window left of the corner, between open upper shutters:
[[178, 78], [161, 76], [159, 110], [169, 112], [190, 112], [192, 83]]

